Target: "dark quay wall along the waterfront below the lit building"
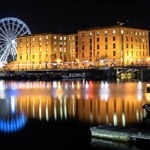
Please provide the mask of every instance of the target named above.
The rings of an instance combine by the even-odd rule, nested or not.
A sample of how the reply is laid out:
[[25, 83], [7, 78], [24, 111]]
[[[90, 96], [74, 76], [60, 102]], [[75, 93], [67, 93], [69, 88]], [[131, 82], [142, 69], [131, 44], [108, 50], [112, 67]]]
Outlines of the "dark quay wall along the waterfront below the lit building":
[[99, 67], [87, 69], [47, 69], [47, 70], [2, 70], [0, 79], [5, 80], [53, 80], [62, 79], [69, 73], [84, 73], [86, 79], [113, 80], [116, 78], [150, 79], [149, 66]]

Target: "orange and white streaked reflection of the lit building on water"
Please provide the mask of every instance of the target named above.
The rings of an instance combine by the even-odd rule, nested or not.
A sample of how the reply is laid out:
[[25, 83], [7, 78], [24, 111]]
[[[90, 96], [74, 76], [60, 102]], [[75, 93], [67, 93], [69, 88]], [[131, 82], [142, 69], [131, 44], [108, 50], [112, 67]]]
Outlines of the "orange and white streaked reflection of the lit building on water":
[[20, 120], [26, 115], [46, 121], [73, 118], [92, 125], [127, 126], [142, 122], [145, 116], [142, 105], [150, 96], [144, 88], [142, 82], [0, 81], [0, 118], [20, 114]]

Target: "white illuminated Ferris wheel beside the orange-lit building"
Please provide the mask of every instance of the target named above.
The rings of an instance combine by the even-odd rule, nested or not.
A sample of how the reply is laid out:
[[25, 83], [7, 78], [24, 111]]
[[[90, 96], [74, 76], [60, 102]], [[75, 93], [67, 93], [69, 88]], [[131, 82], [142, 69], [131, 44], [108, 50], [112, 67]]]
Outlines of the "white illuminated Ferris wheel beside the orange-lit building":
[[28, 26], [13, 17], [0, 19], [0, 62], [7, 63], [16, 59], [17, 36], [31, 34]]

